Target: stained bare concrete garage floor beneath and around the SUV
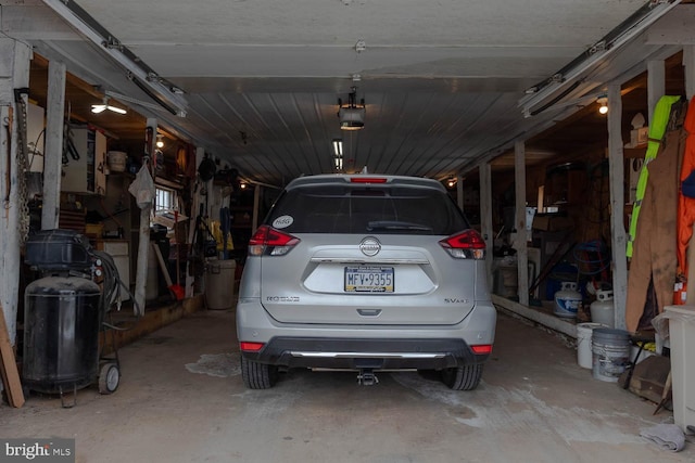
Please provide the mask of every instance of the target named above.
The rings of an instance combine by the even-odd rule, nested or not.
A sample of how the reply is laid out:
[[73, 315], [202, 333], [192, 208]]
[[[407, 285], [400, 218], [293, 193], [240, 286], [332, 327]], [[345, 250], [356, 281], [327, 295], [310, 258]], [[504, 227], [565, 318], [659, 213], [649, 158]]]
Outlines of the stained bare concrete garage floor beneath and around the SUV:
[[112, 396], [73, 409], [31, 396], [0, 408], [0, 436], [74, 437], [77, 462], [693, 462], [639, 436], [672, 423], [655, 404], [592, 378], [563, 340], [500, 316], [480, 387], [447, 389], [416, 372], [293, 371], [247, 390], [233, 313], [204, 311], [121, 349]]

